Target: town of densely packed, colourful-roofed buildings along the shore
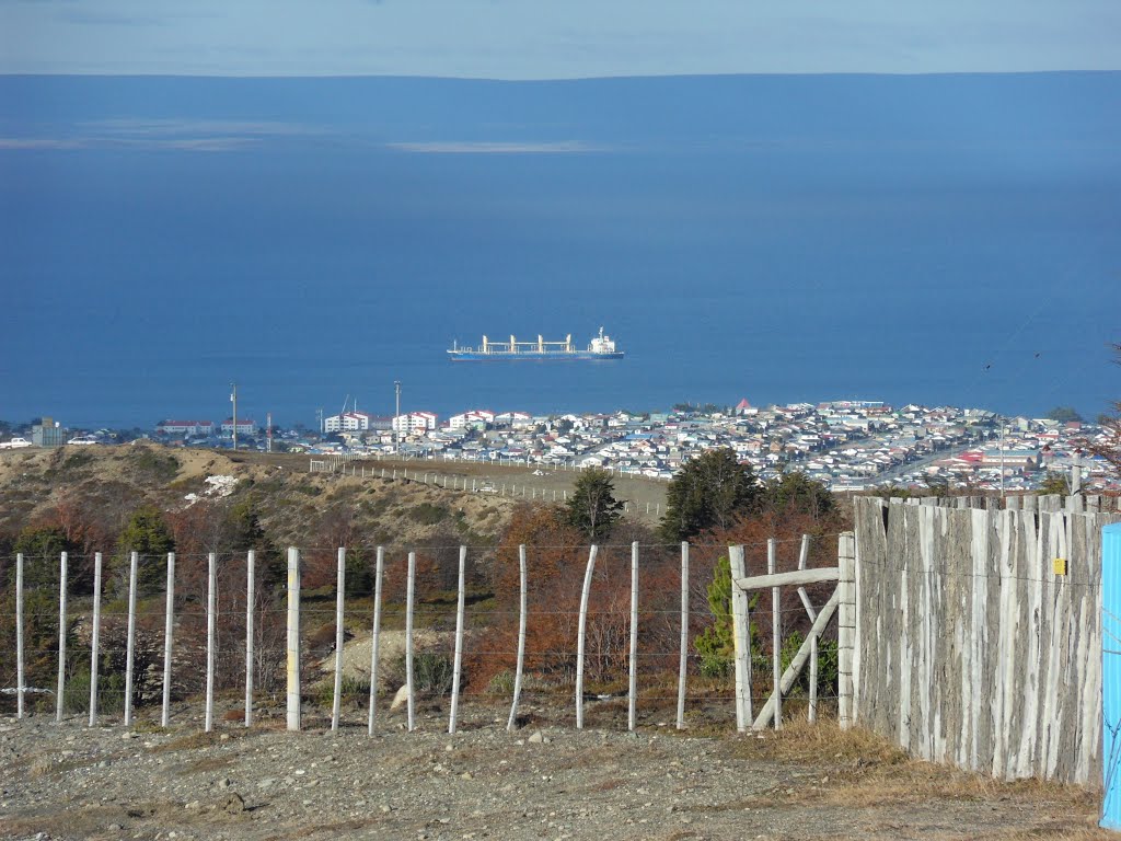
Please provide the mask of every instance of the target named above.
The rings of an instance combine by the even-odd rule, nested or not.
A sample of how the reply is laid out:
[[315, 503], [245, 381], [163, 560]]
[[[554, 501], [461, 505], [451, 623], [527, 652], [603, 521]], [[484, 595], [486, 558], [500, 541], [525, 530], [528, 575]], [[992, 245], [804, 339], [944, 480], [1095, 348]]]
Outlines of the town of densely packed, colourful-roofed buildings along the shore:
[[734, 407], [683, 404], [649, 413], [470, 409], [444, 419], [424, 410], [377, 416], [355, 408], [322, 417], [318, 428], [278, 428], [271, 418], [261, 426], [249, 417], [221, 424], [166, 419], [150, 432], [71, 431], [52, 418], [37, 420], [0, 426], [0, 438], [6, 438], [0, 449], [151, 438], [170, 446], [311, 455], [596, 466], [669, 480], [697, 453], [731, 447], [762, 480], [802, 471], [834, 491], [1121, 490], [1093, 455], [1105, 431], [1059, 409], [1030, 418], [973, 408], [891, 407], [878, 400], [756, 407], [744, 399]]

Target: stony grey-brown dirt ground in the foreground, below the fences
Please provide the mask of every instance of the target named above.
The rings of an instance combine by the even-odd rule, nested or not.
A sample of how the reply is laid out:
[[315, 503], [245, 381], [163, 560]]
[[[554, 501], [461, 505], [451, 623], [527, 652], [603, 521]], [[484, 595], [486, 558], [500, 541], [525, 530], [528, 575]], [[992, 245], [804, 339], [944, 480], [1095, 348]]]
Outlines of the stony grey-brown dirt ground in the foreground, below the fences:
[[401, 711], [344, 710], [331, 732], [282, 710], [250, 729], [230, 702], [202, 732], [197, 704], [163, 730], [81, 718], [0, 719], [4, 839], [1106, 839], [1097, 794], [1038, 782], [998, 783], [909, 760], [830, 721], [734, 733], [676, 731], [673, 711], [626, 703], [572, 710], [530, 700], [508, 732], [508, 708], [465, 702], [447, 731], [446, 700]]

